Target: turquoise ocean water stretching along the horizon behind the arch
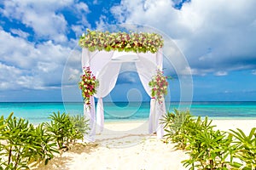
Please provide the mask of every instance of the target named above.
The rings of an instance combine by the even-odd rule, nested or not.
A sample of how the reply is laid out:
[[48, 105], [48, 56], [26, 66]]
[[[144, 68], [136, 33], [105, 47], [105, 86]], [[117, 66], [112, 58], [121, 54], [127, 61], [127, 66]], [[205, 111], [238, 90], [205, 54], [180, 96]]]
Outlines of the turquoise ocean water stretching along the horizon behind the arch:
[[[253, 102], [192, 102], [166, 103], [166, 110], [189, 110], [193, 116], [208, 116], [211, 119], [256, 119], [256, 101]], [[104, 103], [106, 122], [148, 120], [149, 102]], [[83, 103], [0, 103], [0, 116], [14, 112], [33, 124], [48, 122], [53, 112], [83, 115]]]

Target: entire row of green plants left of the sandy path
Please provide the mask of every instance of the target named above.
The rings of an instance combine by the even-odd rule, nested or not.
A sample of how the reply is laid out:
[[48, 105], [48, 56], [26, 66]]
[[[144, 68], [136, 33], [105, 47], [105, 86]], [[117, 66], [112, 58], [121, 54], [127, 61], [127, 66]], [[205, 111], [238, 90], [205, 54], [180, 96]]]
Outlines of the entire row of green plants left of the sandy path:
[[[11, 113], [0, 117], [0, 170], [29, 169], [44, 161], [46, 165], [59, 148], [68, 142], [83, 139], [88, 124], [83, 116], [69, 117], [65, 113], [53, 114], [52, 121], [34, 127]], [[59, 132], [57, 132], [57, 129]], [[60, 139], [63, 137], [63, 139]]]

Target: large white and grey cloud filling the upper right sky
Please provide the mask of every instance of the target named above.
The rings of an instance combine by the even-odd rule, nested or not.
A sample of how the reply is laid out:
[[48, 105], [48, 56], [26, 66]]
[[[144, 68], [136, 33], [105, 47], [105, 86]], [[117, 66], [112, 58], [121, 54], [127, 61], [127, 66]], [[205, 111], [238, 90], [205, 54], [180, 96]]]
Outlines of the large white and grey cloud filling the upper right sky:
[[169, 0], [123, 0], [111, 11], [121, 23], [166, 32], [198, 74], [256, 68], [255, 1], [194, 0], [180, 10], [173, 5]]

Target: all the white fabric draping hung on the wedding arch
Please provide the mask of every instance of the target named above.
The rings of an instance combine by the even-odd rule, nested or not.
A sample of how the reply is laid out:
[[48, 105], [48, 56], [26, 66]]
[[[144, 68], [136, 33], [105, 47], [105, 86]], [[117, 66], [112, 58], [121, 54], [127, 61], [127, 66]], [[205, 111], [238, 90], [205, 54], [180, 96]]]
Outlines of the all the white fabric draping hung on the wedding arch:
[[[131, 60], [129, 60], [129, 57], [127, 58], [129, 55], [131, 56]], [[96, 134], [96, 125], [99, 127], [99, 133], [102, 132], [104, 126], [104, 106], [102, 99], [114, 88], [122, 62], [137, 61], [137, 72], [143, 83], [143, 88], [145, 88], [147, 94], [152, 97], [151, 88], [149, 88], [148, 82], [151, 81], [157, 69], [162, 69], [163, 57], [161, 50], [157, 54], [134, 54], [113, 51], [90, 52], [87, 48], [83, 48], [81, 61], [82, 67], [90, 66], [90, 70], [96, 76], [96, 79], [99, 80], [99, 87], [96, 89], [97, 92], [95, 95], [98, 99], [96, 109], [94, 97], [90, 98], [90, 108], [84, 105], [84, 115], [90, 118], [90, 140], [93, 141]], [[158, 138], [163, 136], [163, 128], [159, 119], [165, 113], [166, 106], [164, 102], [160, 104], [156, 99], [150, 100], [148, 132], [157, 133]]]

